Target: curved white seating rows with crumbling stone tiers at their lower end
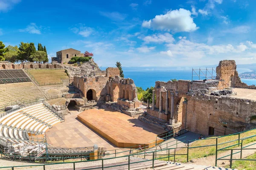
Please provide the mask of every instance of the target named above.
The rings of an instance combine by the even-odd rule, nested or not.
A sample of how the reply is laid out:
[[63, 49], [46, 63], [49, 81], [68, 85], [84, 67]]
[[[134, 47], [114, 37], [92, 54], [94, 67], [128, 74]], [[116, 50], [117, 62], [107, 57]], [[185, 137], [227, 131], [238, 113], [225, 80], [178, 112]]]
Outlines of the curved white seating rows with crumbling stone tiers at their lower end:
[[[50, 111], [43, 103], [30, 105], [0, 118], [0, 140], [6, 143], [11, 142], [13, 150], [15, 152], [17, 150], [23, 156], [29, 153], [42, 153], [45, 147], [39, 142], [29, 141], [27, 131], [41, 134], [52, 125], [62, 121], [64, 120]], [[26, 152], [21, 151], [20, 148]]]

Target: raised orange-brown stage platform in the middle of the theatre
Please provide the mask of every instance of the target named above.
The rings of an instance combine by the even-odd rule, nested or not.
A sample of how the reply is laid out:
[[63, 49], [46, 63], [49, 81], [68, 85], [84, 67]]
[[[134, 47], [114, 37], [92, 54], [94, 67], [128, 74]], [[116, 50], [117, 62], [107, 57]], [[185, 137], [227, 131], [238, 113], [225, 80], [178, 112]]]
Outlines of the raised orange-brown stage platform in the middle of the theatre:
[[144, 144], [145, 147], [153, 147], [157, 135], [166, 133], [163, 129], [108, 108], [86, 110], [77, 118], [117, 147], [144, 147]]

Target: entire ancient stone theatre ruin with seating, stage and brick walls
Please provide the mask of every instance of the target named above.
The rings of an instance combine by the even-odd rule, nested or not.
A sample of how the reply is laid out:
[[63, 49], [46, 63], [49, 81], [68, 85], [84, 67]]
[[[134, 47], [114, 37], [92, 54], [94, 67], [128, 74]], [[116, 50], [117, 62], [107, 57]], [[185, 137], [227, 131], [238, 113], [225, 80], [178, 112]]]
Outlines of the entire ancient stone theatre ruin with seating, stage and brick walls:
[[234, 60], [193, 69], [191, 80], [155, 82], [152, 103], [139, 101], [134, 80], [119, 74], [93, 59], [0, 62], [1, 155], [84, 161], [143, 150], [146, 159], [146, 150], [188, 131], [198, 138], [256, 128], [256, 87], [241, 82]]

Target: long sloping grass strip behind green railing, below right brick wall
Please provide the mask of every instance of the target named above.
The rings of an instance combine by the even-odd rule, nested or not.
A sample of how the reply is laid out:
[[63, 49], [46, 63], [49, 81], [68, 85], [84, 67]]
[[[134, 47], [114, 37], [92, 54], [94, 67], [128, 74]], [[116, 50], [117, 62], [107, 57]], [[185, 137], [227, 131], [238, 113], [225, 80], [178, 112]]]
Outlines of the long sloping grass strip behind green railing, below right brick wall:
[[[240, 139], [245, 138], [247, 136], [253, 136], [255, 134], [256, 134], [256, 130], [250, 130], [250, 131], [241, 133]], [[195, 142], [192, 142], [191, 144], [189, 144], [189, 160], [203, 158], [203, 157], [212, 156], [212, 155], [216, 154], [216, 146], [199, 147], [199, 146], [206, 146], [206, 145], [212, 145], [212, 144], [215, 145], [216, 144], [215, 137], [209, 137], [206, 139], [207, 140], [198, 140], [198, 141], [195, 141]], [[221, 149], [223, 147], [232, 146], [234, 144], [238, 144], [239, 143], [238, 141], [233, 141], [233, 140], [237, 140], [237, 139], [239, 139], [238, 134], [218, 138], [218, 144], [219, 144], [218, 149]], [[231, 141], [233, 141], [233, 142], [231, 142]], [[256, 136], [253, 138], [250, 138], [250, 139], [245, 139], [245, 140], [243, 140], [243, 146], [245, 144], [255, 142], [255, 141], [256, 141]], [[225, 142], [228, 142], [228, 143], [225, 143]], [[224, 143], [224, 144], [221, 144], [221, 143]], [[190, 147], [197, 147], [197, 148], [190, 148]], [[233, 147], [228, 147], [227, 149], [232, 149], [232, 148], [236, 148], [236, 147], [238, 147], [238, 145], [235, 145]], [[218, 154], [222, 153], [222, 152], [225, 152], [225, 151], [218, 151]], [[186, 154], [186, 153], [187, 153], [187, 148], [182, 148], [182, 149], [176, 151], [176, 154]], [[167, 159], [165, 158], [162, 160], [167, 161], [168, 158]], [[170, 158], [170, 160], [173, 161], [173, 158]], [[186, 162], [186, 156], [176, 156], [175, 161], [184, 163], [184, 162]]]

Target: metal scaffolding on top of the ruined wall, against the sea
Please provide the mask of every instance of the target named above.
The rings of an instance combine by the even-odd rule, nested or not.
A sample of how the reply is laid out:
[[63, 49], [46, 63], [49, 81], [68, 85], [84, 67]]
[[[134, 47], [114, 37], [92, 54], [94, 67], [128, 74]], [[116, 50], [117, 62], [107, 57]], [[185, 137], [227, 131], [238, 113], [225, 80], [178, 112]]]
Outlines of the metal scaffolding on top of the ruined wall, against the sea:
[[229, 83], [221, 79], [213, 68], [192, 68], [191, 92], [214, 96], [236, 95]]

